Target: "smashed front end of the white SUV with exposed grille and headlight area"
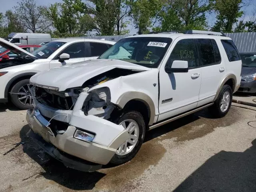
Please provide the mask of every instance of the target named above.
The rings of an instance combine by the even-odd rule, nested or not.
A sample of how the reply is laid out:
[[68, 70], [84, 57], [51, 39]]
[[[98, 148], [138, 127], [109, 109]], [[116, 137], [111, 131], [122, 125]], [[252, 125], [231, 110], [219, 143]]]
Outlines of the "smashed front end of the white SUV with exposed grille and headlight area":
[[[131, 70], [122, 72], [136, 73]], [[97, 165], [110, 162], [118, 147], [130, 135], [122, 125], [111, 120], [112, 114], [119, 108], [111, 102], [110, 89], [101, 87], [90, 91], [90, 88], [116, 76], [119, 75], [114, 71], [103, 73], [86, 81], [82, 87], [66, 91], [41, 85], [32, 87], [35, 109], [28, 110], [27, 121], [32, 133], [47, 143], [43, 146], [52, 146], [45, 149], [46, 152], [66, 166], [84, 171], [92, 171], [99, 166], [81, 168], [76, 166], [77, 158]], [[37, 140], [37, 143], [41, 144], [42, 140]], [[59, 153], [66, 155], [60, 156]]]

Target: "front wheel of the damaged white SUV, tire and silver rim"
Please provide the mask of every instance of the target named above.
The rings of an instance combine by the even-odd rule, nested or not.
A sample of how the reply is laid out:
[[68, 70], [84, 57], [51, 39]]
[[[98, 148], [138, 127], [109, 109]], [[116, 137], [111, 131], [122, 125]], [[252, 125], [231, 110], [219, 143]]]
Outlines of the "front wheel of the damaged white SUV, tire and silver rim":
[[142, 146], [145, 137], [145, 122], [139, 112], [130, 111], [119, 118], [117, 124], [122, 125], [128, 131], [130, 138], [120, 145], [110, 163], [123, 164], [131, 160]]

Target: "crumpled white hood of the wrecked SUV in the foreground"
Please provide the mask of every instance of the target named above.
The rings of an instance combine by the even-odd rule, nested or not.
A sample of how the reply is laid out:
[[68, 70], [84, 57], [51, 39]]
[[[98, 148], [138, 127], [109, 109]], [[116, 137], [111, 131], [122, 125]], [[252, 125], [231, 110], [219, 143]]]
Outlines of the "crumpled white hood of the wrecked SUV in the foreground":
[[151, 70], [151, 68], [121, 60], [97, 59], [69, 64], [40, 72], [32, 76], [30, 82], [32, 84], [56, 87], [59, 91], [64, 91], [68, 88], [80, 87], [90, 78], [114, 68], [142, 71]]

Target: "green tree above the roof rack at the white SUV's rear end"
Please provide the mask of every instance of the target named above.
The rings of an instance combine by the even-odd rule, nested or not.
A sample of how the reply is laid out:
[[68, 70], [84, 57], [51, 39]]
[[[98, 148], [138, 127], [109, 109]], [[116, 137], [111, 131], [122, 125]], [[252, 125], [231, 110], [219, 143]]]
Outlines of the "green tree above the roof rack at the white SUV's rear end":
[[[243, 5], [242, 0], [216, 0], [214, 10], [217, 14], [217, 21], [212, 30], [232, 32], [233, 25], [243, 14], [241, 11]], [[241, 27], [240, 25], [239, 28]]]

